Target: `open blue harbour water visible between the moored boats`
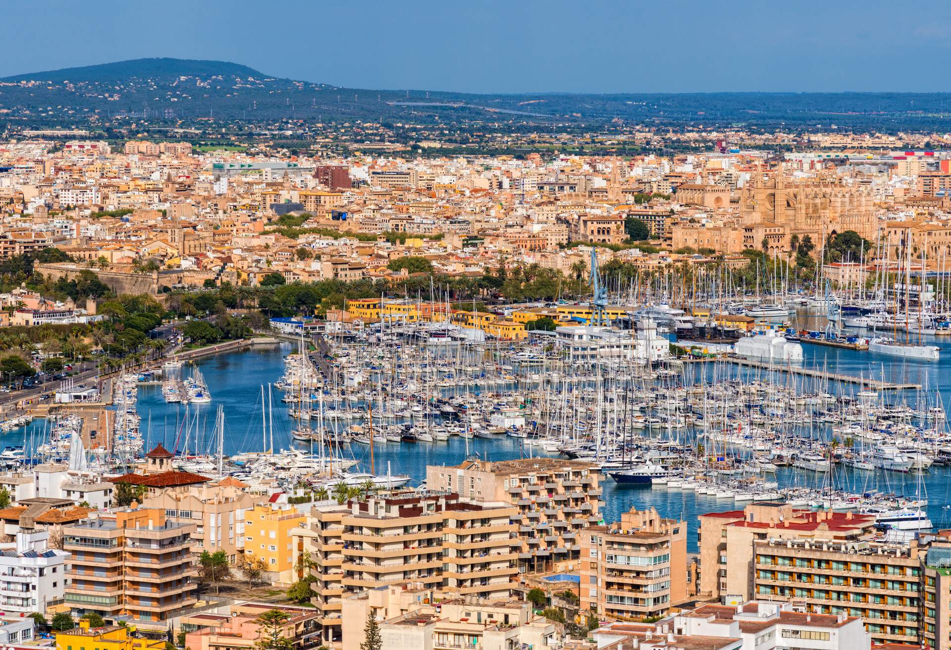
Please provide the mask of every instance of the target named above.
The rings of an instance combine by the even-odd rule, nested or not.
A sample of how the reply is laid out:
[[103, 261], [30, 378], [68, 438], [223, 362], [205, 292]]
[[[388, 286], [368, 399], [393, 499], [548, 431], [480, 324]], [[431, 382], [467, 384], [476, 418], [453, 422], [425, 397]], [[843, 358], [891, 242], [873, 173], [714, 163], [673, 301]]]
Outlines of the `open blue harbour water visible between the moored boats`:
[[[872, 376], [886, 381], [917, 383], [927, 386], [931, 391], [941, 391], [945, 408], [947, 396], [951, 395], [951, 341], [947, 343], [939, 338], [937, 345], [942, 348], [941, 361], [935, 363], [909, 362], [877, 356], [868, 352], [858, 352], [819, 345], [804, 345], [806, 361], [809, 367], [825, 367], [829, 371], [843, 374]], [[141, 430], [146, 439], [146, 447], [163, 443], [170, 450], [182, 450], [187, 444], [189, 451], [214, 453], [212, 440], [215, 412], [218, 404], [223, 406], [226, 436], [225, 453], [261, 450], [262, 413], [270, 412], [273, 418], [274, 446], [288, 447], [293, 442], [290, 431], [293, 426], [287, 404], [281, 403], [281, 392], [272, 393], [272, 407], [262, 409], [262, 385], [276, 382], [283, 373], [282, 357], [290, 351], [287, 346], [281, 348], [251, 348], [237, 352], [228, 352], [213, 357], [205, 357], [196, 362], [212, 395], [211, 404], [191, 404], [187, 410], [181, 404], [165, 404], [160, 386], [141, 386], [137, 409], [142, 415]], [[187, 368], [184, 370], [189, 371]], [[857, 390], [857, 388], [846, 388]], [[896, 401], [901, 395], [889, 395], [886, 399]], [[913, 402], [914, 393], [904, 393], [903, 399]], [[265, 403], [267, 396], [265, 394]], [[186, 418], [187, 413], [187, 418]], [[24, 429], [12, 431], [0, 437], [0, 444], [29, 444], [30, 439], [40, 440], [46, 423], [42, 420], [29, 424]], [[187, 439], [187, 443], [186, 443]], [[269, 441], [268, 441], [269, 443]], [[368, 469], [369, 449], [353, 445], [355, 458], [361, 469]], [[519, 439], [502, 437], [498, 440], [476, 438], [469, 441], [469, 453], [477, 454], [488, 460], [507, 460], [529, 455]], [[537, 451], [532, 451], [537, 454]], [[466, 443], [458, 437], [452, 437], [446, 443], [386, 443], [376, 449], [376, 467], [378, 473], [389, 468], [394, 474], [410, 474], [417, 481], [425, 478], [429, 464], [453, 465], [466, 457]], [[880, 473], [879, 483], [870, 483], [873, 479], [846, 470], [836, 470], [836, 484], [850, 489], [864, 490], [873, 487], [883, 491], [914, 494], [918, 489], [917, 477], [897, 473]], [[923, 488], [929, 499], [928, 512], [936, 525], [951, 524], [951, 503], [949, 494], [951, 468], [932, 467], [923, 477]], [[781, 486], [789, 484], [822, 485], [823, 477], [808, 472], [781, 468], [777, 473]], [[683, 518], [689, 525], [689, 549], [696, 550], [697, 515], [728, 510], [735, 507], [730, 500], [717, 500], [693, 492], [681, 492], [666, 488], [621, 488], [610, 478], [604, 477], [605, 521], [620, 519], [620, 514], [631, 506], [644, 508], [654, 506], [666, 517]]]

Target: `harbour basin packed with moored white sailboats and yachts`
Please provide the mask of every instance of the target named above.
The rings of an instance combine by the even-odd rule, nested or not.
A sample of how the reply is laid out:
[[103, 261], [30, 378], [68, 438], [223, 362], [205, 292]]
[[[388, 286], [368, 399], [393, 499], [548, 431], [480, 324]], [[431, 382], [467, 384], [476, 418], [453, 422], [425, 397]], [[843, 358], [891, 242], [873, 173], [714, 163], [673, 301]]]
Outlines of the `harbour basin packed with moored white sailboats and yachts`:
[[[331, 338], [320, 340], [316, 349], [320, 353], [311, 355], [313, 372], [308, 371], [306, 376], [295, 374], [294, 368], [301, 368], [300, 344], [289, 342], [280, 347], [225, 351], [169, 369], [189, 383], [200, 378], [211, 394], [208, 403], [169, 402], [163, 384], [153, 381], [116, 383], [108, 417], [126, 423], [120, 428], [131, 445], [129, 449], [162, 443], [179, 456], [177, 463], [183, 469], [211, 475], [217, 471], [214, 456], [219, 445], [225, 458], [243, 456], [251, 461], [245, 464], [264, 463], [264, 456], [255, 455], [274, 453], [275, 460], [267, 461], [272, 476], [291, 471], [290, 466], [296, 463], [298, 473], [291, 471], [287, 476], [301, 472], [323, 475], [333, 468], [337, 477], [328, 478], [327, 484], [358, 483], [372, 474], [383, 486], [404, 483], [402, 477], [406, 477], [406, 484], [417, 485], [425, 478], [427, 465], [454, 465], [469, 457], [573, 457], [600, 463], [606, 472], [602, 482], [603, 516], [609, 521], [633, 505], [653, 505], [666, 516], [691, 522], [703, 512], [766, 499], [785, 499], [809, 507], [849, 507], [849, 500], [855, 498], [849, 495], [869, 495], [869, 507], [884, 495], [896, 495], [877, 507], [892, 512], [926, 503], [922, 507], [930, 521], [951, 520], [943, 505], [948, 501], [951, 478], [951, 467], [943, 459], [951, 452], [943, 451], [947, 437], [942, 414], [940, 423], [924, 422], [924, 416], [922, 431], [929, 433], [921, 435], [918, 442], [912, 434], [909, 442], [902, 443], [910, 443], [913, 450], [917, 445], [918, 451], [927, 452], [936, 461], [928, 463], [926, 473], [877, 466], [870, 453], [879, 441], [902, 441], [900, 432], [911, 430], [904, 424], [889, 428], [887, 422], [912, 423], [915, 415], [910, 406], [922, 399], [922, 386], [929, 386], [938, 395], [951, 390], [943, 360], [939, 364], [894, 364], [872, 355], [873, 361], [869, 362], [868, 352], [850, 349], [835, 349], [832, 358], [827, 354], [832, 350], [814, 346], [806, 347], [802, 366], [728, 358], [703, 364], [688, 361], [681, 370], [662, 369], [660, 375], [642, 366], [616, 366], [615, 370], [623, 368], [626, 378], [615, 382], [597, 368], [572, 374], [556, 360], [545, 361], [540, 350], [533, 353], [527, 345], [420, 347], [393, 339], [384, 345], [341, 346]], [[476, 366], [467, 362], [472, 355], [499, 361], [482, 364], [476, 371]], [[408, 364], [396, 374], [401, 364], [398, 360], [410, 358], [428, 359], [434, 367], [427, 371], [423, 362]], [[510, 359], [509, 364], [504, 363]], [[358, 360], [363, 366], [360, 372], [365, 374], [356, 372]], [[820, 369], [827, 366], [844, 372]], [[695, 382], [705, 376], [714, 384], [727, 385], [728, 381], [733, 386], [730, 391], [753, 389], [750, 395], [767, 398], [757, 398], [764, 407], [727, 413], [721, 423], [728, 426], [713, 425], [716, 418], [711, 411], [723, 405], [706, 389], [706, 398], [697, 397], [703, 384]], [[871, 376], [877, 379], [869, 379]], [[774, 377], [786, 379], [769, 381]], [[790, 384], [792, 378], [799, 384]], [[381, 389], [393, 380], [398, 389]], [[650, 389], [657, 381], [673, 388], [672, 394], [677, 397], [658, 401], [657, 395], [664, 391]], [[296, 400], [292, 387], [295, 382]], [[307, 387], [301, 393], [303, 384]], [[838, 387], [833, 388], [836, 384]], [[831, 392], [819, 400], [825, 391]], [[806, 397], [807, 392], [815, 397]], [[446, 404], [398, 399], [397, 393], [404, 397], [438, 396]], [[799, 393], [803, 396], [797, 397]], [[832, 393], [841, 393], [847, 399], [841, 402]], [[303, 440], [294, 435], [301, 429], [301, 394], [305, 395], [303, 404], [309, 406], [307, 426], [312, 434], [318, 434]], [[895, 397], [886, 400], [886, 394]], [[708, 401], [708, 424], [703, 423], [702, 413], [695, 412], [694, 406], [702, 405], [703, 399]], [[638, 400], [644, 401], [643, 410], [633, 408]], [[810, 400], [816, 402], [813, 406], [823, 407], [806, 408], [805, 402]], [[691, 401], [694, 406], [685, 410], [684, 405]], [[767, 419], [775, 416], [765, 404], [777, 404], [779, 408], [780, 402], [785, 402], [783, 408], [801, 415], [811, 413], [813, 422], [803, 427], [780, 427], [786, 430], [767, 435]], [[579, 408], [581, 404], [590, 405]], [[852, 413], [858, 404], [879, 404], [874, 410], [883, 426], [855, 418]], [[937, 404], [926, 410], [937, 419], [938, 411], [931, 409], [943, 407]], [[513, 408], [513, 416], [505, 416], [505, 408]], [[460, 416], [460, 411], [464, 415]], [[569, 414], [580, 412], [584, 416], [572, 424]], [[361, 427], [366, 443], [359, 441]], [[36, 443], [49, 435], [49, 429], [49, 421], [38, 419], [6, 433], [0, 443], [13, 447], [26, 443], [29, 449], [32, 441], [33, 448], [37, 448]], [[580, 433], [571, 433], [572, 429]], [[373, 445], [368, 444], [365, 435], [371, 430]], [[758, 442], [761, 436], [762, 442]], [[833, 459], [835, 463], [828, 463], [828, 442], [833, 438], [840, 441], [839, 456]], [[63, 440], [62, 435], [59, 440]], [[841, 453], [842, 441], [851, 442], [854, 455]], [[320, 453], [321, 443], [329, 453]], [[718, 464], [709, 454], [698, 454], [698, 448], [704, 445], [717, 450], [716, 458], [729, 459], [728, 463]], [[812, 456], [786, 455], [786, 450], [797, 445], [813, 449]], [[60, 453], [67, 450], [68, 445], [60, 445]], [[601, 450], [604, 453], [599, 453]], [[87, 456], [95, 460], [88, 451]], [[663, 478], [639, 480], [636, 483], [640, 487], [608, 478], [611, 472], [625, 471], [625, 466], [639, 467], [636, 463], [649, 458], [653, 459], [650, 463], [664, 467]], [[281, 464], [285, 469], [278, 469]], [[231, 467], [243, 480], [249, 478], [246, 470], [238, 470], [233, 464], [225, 467]], [[391, 477], [389, 481], [387, 476]], [[871, 495], [881, 497], [872, 499]], [[694, 538], [689, 536], [690, 547], [695, 545]]]

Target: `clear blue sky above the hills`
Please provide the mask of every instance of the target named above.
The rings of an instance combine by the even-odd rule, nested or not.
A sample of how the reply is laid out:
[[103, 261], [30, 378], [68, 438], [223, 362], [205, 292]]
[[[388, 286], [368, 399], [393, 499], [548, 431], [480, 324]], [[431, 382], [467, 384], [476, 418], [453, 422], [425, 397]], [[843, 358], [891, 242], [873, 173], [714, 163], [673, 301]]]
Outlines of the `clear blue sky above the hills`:
[[146, 56], [364, 89], [944, 91], [951, 3], [4, 0], [0, 76]]

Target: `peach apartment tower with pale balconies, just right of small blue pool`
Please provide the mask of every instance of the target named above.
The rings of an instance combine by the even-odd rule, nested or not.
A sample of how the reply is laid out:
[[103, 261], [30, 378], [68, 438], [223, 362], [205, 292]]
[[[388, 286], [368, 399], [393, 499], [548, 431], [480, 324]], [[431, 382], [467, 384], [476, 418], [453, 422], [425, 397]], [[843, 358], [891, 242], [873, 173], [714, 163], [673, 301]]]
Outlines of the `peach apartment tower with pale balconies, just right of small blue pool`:
[[581, 608], [618, 618], [660, 616], [687, 601], [687, 522], [631, 509], [579, 533]]

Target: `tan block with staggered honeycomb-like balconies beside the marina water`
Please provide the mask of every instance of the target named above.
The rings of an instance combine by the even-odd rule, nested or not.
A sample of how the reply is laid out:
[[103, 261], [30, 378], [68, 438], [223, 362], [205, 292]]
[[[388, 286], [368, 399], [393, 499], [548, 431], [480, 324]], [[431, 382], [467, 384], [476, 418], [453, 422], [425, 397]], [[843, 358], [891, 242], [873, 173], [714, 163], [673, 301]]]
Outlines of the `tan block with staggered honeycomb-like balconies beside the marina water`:
[[426, 468], [430, 489], [512, 504], [518, 565], [530, 572], [553, 569], [557, 562], [579, 557], [578, 534], [601, 522], [598, 478], [592, 463], [548, 458], [497, 463], [467, 460], [456, 466]]

